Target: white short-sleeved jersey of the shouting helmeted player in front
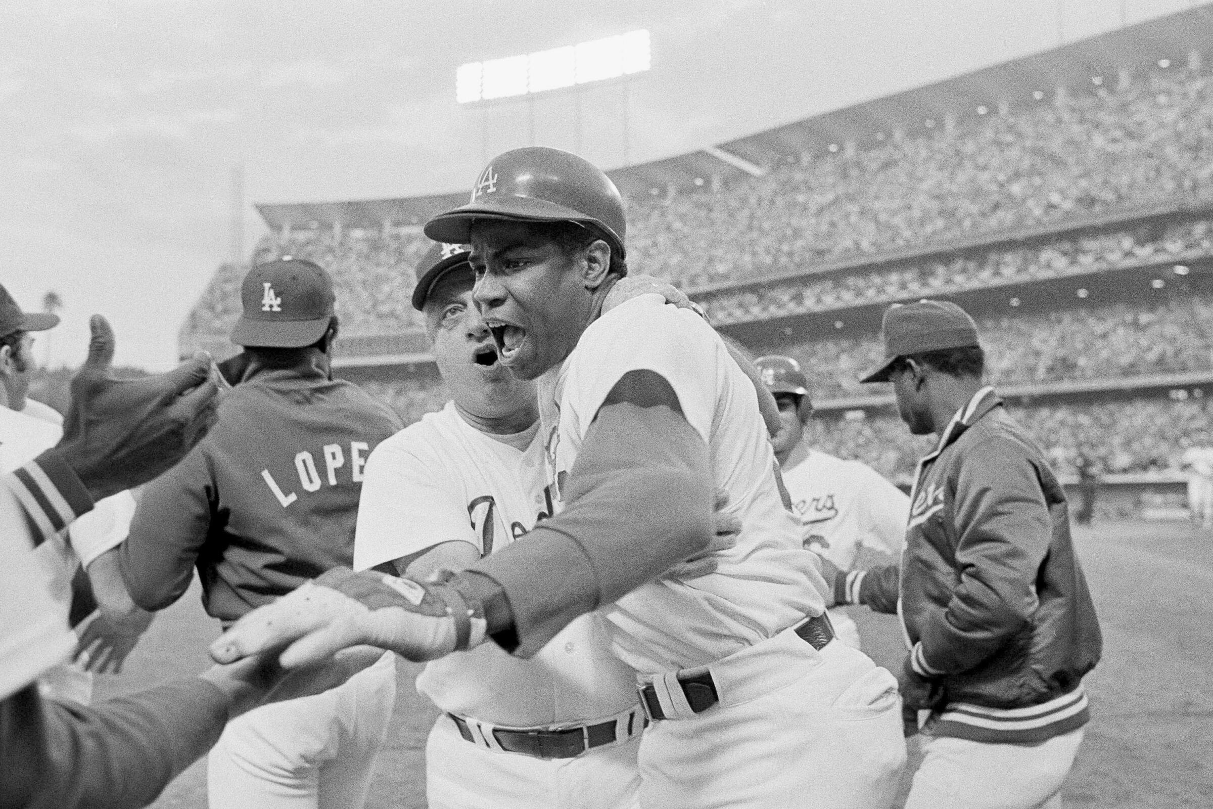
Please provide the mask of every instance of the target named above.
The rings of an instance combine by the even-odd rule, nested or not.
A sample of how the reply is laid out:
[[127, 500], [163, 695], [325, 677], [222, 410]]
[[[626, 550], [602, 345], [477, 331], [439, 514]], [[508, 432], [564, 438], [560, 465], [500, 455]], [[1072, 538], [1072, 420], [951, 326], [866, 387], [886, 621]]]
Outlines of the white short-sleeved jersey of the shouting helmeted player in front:
[[540, 378], [548, 479], [573, 468], [581, 441], [610, 389], [628, 371], [661, 375], [683, 415], [707, 444], [725, 511], [741, 519], [736, 546], [716, 572], [657, 579], [602, 614], [615, 653], [647, 673], [706, 665], [825, 611], [816, 559], [782, 505], [775, 456], [748, 377], [702, 318], [642, 295], [592, 323], [573, 353]]

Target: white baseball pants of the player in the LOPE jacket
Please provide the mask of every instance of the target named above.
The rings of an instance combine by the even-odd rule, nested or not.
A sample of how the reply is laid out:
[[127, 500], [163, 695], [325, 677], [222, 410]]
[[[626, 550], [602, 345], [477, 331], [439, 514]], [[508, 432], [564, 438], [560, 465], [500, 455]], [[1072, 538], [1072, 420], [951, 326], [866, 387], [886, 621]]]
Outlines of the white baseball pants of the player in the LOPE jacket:
[[206, 759], [210, 809], [359, 809], [394, 705], [386, 653], [337, 688], [237, 717]]

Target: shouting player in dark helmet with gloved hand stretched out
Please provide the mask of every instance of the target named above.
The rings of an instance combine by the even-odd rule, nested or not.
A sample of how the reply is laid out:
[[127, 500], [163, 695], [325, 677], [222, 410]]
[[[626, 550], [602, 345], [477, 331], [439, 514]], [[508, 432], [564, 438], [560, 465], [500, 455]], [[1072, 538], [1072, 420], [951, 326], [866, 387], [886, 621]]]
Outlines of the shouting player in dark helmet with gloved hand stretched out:
[[[642, 805], [889, 805], [905, 763], [896, 683], [832, 643], [753, 386], [711, 326], [660, 296], [602, 314], [627, 272], [610, 180], [565, 152], [508, 152], [426, 233], [471, 243], [499, 358], [539, 380], [556, 513], [439, 581], [321, 577], [246, 616], [216, 659], [292, 640], [284, 665], [364, 642], [425, 659], [485, 637], [529, 657], [598, 610], [651, 720]], [[718, 489], [736, 546], [705, 576], [664, 576], [708, 546]]]

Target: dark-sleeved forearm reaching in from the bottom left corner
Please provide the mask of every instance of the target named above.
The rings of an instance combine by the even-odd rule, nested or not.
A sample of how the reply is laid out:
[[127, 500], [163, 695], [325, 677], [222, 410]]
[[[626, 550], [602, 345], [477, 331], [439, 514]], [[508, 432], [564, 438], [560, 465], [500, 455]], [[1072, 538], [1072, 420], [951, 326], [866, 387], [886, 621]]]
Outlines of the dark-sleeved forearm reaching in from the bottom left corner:
[[93, 707], [42, 700], [38, 686], [0, 702], [0, 807], [143, 807], [211, 748], [228, 697], [197, 677]]

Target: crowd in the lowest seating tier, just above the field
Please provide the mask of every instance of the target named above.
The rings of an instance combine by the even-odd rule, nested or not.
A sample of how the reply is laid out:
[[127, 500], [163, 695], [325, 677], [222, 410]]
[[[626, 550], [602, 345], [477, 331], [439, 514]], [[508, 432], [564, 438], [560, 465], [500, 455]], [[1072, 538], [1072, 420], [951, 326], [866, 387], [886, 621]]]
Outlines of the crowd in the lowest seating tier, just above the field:
[[[1189, 446], [1213, 443], [1213, 404], [1206, 399], [1010, 406], [1010, 412], [1063, 475], [1076, 474], [1074, 461], [1080, 451], [1093, 461], [1097, 474], [1163, 472], [1178, 471]], [[862, 418], [824, 415], [811, 425], [822, 451], [859, 458], [902, 484], [913, 478], [918, 458], [934, 445], [932, 435], [911, 435], [892, 410]]]

